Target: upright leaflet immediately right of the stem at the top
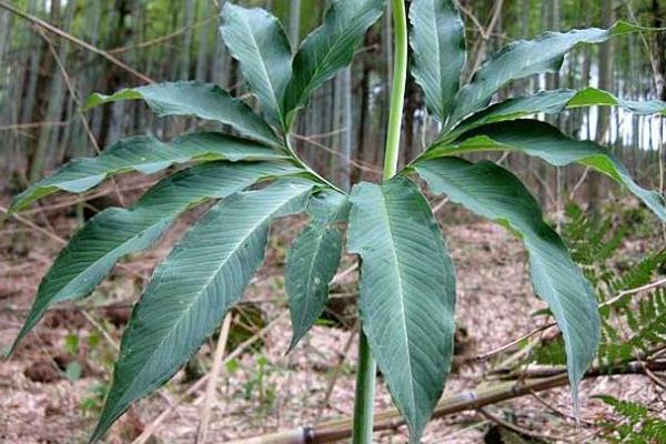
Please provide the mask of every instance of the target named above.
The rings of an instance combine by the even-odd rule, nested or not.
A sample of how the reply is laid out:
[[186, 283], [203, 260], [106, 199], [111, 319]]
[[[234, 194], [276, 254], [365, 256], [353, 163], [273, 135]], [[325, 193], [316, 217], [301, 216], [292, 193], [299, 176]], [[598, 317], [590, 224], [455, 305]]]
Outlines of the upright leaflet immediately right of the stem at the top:
[[465, 65], [465, 27], [453, 0], [414, 0], [410, 7], [412, 75], [430, 112], [446, 120]]

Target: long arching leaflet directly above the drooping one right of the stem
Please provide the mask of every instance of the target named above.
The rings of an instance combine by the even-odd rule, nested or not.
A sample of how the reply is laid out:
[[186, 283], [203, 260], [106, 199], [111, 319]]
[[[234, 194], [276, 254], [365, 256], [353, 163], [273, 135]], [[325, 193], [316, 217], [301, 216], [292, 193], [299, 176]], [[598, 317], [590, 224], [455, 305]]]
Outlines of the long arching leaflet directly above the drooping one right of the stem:
[[435, 145], [424, 158], [456, 155], [478, 151], [519, 151], [555, 167], [581, 163], [623, 183], [662, 221], [666, 221], [664, 198], [657, 191], [640, 188], [627, 168], [613, 153], [591, 141], [577, 141], [557, 128], [538, 120], [523, 119], [480, 127], [465, 133], [464, 140]]

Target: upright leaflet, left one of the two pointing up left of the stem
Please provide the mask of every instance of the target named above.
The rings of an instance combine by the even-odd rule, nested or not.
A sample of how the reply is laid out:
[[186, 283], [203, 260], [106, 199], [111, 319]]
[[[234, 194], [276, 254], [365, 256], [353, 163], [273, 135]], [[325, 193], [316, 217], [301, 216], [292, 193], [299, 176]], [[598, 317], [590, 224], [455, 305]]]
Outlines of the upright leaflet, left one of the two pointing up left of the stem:
[[292, 74], [292, 51], [278, 19], [263, 9], [226, 2], [220, 31], [243, 77], [274, 123], [282, 124], [284, 91]]

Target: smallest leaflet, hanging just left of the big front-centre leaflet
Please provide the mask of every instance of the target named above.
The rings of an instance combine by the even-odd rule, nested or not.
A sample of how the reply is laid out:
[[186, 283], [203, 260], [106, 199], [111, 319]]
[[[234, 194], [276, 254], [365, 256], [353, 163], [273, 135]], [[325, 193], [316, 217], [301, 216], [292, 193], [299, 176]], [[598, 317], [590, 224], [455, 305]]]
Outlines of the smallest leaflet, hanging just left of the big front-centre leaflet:
[[346, 219], [346, 195], [324, 191], [312, 196], [307, 212], [312, 221], [294, 240], [286, 254], [284, 282], [292, 319], [292, 350], [323, 313], [329, 284], [340, 265], [342, 233], [337, 222]]

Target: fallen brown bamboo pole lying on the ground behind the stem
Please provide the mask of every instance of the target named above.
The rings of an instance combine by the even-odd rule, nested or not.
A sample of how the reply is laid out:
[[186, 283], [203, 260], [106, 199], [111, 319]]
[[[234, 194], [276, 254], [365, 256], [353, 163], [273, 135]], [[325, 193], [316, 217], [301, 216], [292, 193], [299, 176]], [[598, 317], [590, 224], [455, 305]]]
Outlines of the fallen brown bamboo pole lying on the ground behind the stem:
[[[666, 371], [666, 360], [659, 361], [633, 361], [612, 369], [595, 367], [585, 374], [585, 379], [601, 376], [645, 374], [646, 369], [652, 372]], [[445, 396], [440, 401], [433, 418], [443, 417], [453, 413], [476, 410], [502, 401], [508, 401], [525, 396], [534, 392], [562, 387], [568, 384], [566, 373], [549, 377], [532, 379], [524, 381], [508, 381], [494, 384], [491, 387], [467, 390], [457, 394]], [[375, 414], [374, 431], [396, 428], [404, 424], [404, 420], [395, 408], [386, 410]], [[295, 427], [292, 430], [271, 433], [268, 435], [248, 437], [229, 442], [228, 444], [321, 444], [333, 443], [352, 436], [352, 418], [321, 423], [316, 428], [310, 426]]]

